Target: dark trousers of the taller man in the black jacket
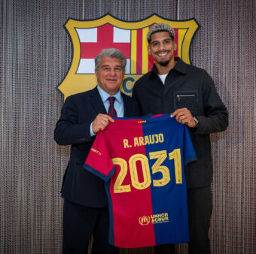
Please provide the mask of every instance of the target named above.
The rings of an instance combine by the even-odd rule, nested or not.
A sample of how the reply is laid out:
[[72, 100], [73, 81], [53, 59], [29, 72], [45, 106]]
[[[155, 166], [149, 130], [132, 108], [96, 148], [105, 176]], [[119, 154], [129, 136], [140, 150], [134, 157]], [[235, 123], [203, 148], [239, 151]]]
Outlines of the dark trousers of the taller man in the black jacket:
[[[190, 232], [188, 252], [190, 254], [211, 253], [209, 240], [209, 227], [212, 216], [211, 186], [187, 189], [187, 207]], [[155, 254], [167, 253], [175, 253], [174, 244], [155, 247]]]

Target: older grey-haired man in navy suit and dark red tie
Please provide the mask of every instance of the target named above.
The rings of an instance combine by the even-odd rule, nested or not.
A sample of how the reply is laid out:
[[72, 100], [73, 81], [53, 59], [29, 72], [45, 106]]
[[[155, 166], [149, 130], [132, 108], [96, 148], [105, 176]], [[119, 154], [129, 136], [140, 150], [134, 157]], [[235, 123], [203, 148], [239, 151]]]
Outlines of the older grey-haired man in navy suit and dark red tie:
[[93, 253], [115, 253], [108, 244], [108, 199], [104, 182], [84, 170], [83, 165], [95, 135], [113, 117], [138, 116], [136, 101], [120, 92], [126, 58], [117, 49], [96, 56], [98, 86], [66, 99], [56, 123], [54, 139], [72, 145], [69, 165], [62, 183], [63, 253], [87, 253], [93, 235]]

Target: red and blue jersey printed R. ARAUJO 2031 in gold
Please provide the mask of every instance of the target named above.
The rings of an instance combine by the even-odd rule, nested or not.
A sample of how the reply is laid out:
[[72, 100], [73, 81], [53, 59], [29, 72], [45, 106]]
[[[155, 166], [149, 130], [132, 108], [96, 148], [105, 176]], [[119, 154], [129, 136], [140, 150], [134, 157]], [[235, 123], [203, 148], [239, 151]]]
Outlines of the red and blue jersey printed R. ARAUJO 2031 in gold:
[[109, 243], [123, 248], [187, 243], [184, 167], [196, 159], [187, 126], [169, 115], [109, 122], [84, 164], [105, 181]]

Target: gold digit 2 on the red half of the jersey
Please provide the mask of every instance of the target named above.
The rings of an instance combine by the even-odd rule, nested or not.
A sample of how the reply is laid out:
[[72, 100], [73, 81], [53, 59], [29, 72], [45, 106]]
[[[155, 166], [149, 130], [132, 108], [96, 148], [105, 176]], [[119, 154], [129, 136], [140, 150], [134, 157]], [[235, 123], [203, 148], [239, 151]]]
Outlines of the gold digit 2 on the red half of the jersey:
[[114, 193], [130, 192], [130, 184], [122, 185], [124, 177], [126, 177], [127, 174], [127, 162], [122, 158], [114, 158], [112, 159], [112, 162], [114, 165], [120, 165], [120, 172], [114, 182]]

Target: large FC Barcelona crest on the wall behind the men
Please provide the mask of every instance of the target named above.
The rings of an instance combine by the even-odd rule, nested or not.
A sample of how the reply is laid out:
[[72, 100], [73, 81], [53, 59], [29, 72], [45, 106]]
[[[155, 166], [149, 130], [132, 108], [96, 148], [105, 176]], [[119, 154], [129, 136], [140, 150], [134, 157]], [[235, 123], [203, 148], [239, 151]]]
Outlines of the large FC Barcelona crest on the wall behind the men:
[[136, 80], [150, 71], [154, 65], [154, 60], [148, 55], [146, 35], [148, 29], [155, 23], [167, 23], [172, 26], [177, 44], [175, 56], [179, 56], [189, 64], [190, 44], [199, 28], [194, 18], [175, 21], [154, 14], [138, 22], [125, 22], [107, 14], [98, 20], [69, 19], [65, 27], [72, 39], [73, 59], [68, 74], [58, 86], [64, 99], [96, 86], [94, 58], [106, 48], [117, 48], [126, 56], [126, 74], [121, 90], [131, 95]]

